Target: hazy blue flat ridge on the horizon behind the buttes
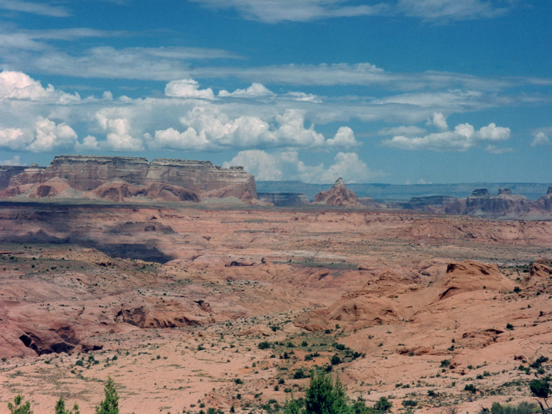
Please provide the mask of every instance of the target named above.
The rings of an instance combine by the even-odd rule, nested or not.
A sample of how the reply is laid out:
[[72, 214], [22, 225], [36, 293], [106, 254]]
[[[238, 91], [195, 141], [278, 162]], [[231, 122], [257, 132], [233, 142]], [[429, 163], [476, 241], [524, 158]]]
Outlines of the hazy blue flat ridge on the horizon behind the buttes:
[[[327, 190], [332, 184], [309, 184], [301, 181], [256, 181], [261, 193], [303, 193], [309, 200]], [[498, 193], [500, 188], [509, 188], [514, 194], [522, 194], [537, 200], [546, 194], [552, 183], [458, 183], [458, 184], [347, 184], [358, 197], [371, 197], [376, 201], [410, 200], [413, 197], [466, 198], [477, 188], [486, 188]]]

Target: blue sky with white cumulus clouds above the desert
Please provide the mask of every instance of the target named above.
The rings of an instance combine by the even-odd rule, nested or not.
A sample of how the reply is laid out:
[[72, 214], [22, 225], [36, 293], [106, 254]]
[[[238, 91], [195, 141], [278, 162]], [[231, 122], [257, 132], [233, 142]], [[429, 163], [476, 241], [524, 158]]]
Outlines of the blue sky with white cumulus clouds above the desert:
[[544, 0], [0, 0], [0, 163], [552, 182]]

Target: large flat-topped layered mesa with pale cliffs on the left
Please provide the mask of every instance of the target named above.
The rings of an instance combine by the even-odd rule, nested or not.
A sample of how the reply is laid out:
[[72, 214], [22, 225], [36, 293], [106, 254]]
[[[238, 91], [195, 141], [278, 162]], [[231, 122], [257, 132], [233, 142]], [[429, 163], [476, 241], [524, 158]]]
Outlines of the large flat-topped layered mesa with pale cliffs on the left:
[[221, 168], [209, 161], [148, 162], [141, 157], [56, 156], [49, 167], [2, 167], [0, 197], [101, 198], [123, 201], [203, 201], [257, 199], [254, 177], [242, 167]]

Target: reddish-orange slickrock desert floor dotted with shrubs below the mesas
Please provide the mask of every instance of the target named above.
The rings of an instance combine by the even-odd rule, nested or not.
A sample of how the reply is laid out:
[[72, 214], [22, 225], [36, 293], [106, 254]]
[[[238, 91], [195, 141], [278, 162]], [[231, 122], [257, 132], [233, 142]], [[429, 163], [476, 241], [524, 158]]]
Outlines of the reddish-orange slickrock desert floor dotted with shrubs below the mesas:
[[91, 414], [110, 375], [123, 413], [261, 414], [314, 369], [479, 412], [551, 369], [552, 221], [64, 203], [0, 202], [0, 407]]

